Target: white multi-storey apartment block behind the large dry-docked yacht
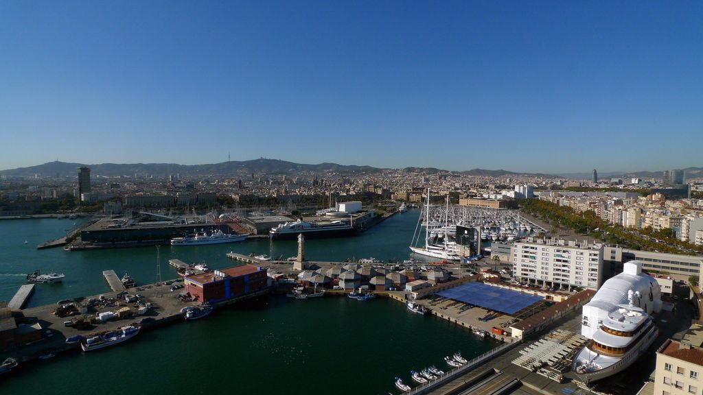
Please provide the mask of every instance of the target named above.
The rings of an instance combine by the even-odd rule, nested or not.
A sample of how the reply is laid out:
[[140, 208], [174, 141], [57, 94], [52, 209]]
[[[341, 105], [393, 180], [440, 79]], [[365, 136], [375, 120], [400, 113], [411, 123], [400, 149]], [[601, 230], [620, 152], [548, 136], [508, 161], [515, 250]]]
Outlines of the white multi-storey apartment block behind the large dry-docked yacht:
[[527, 238], [515, 242], [515, 278], [539, 285], [597, 290], [603, 278], [603, 245]]

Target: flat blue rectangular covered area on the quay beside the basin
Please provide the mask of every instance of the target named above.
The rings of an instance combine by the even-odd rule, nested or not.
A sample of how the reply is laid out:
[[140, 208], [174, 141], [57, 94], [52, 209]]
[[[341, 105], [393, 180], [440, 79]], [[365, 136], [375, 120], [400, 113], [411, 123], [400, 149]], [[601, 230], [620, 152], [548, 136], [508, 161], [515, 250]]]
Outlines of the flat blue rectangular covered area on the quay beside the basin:
[[524, 294], [484, 283], [466, 283], [450, 290], [437, 292], [439, 296], [458, 300], [485, 309], [513, 314], [543, 299], [541, 296]]

